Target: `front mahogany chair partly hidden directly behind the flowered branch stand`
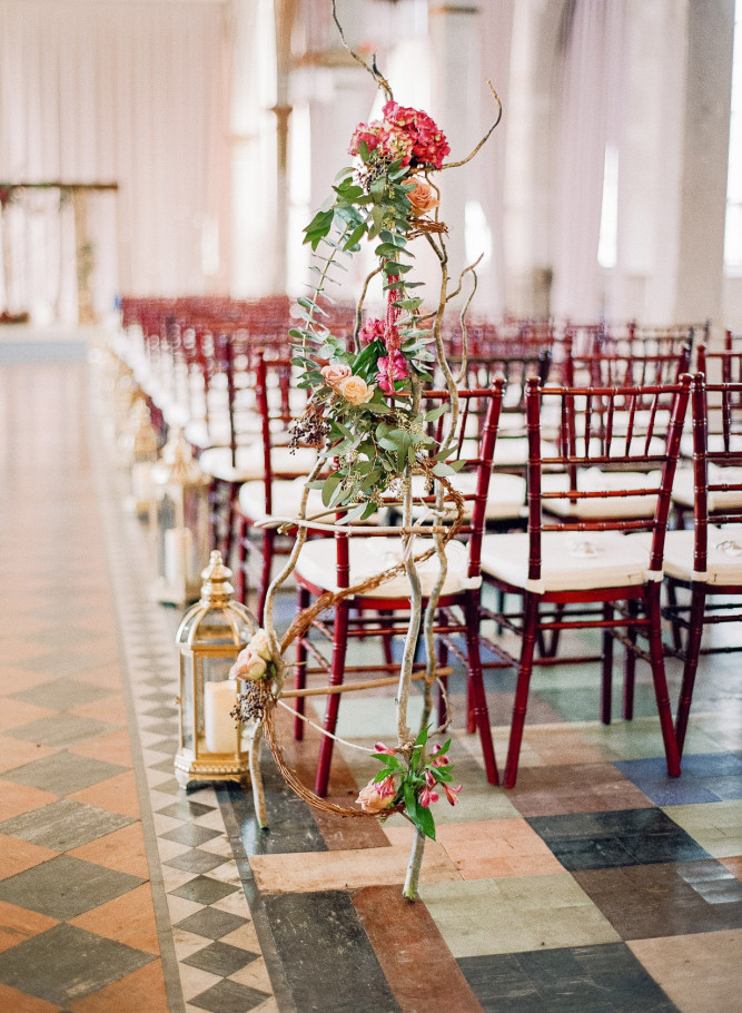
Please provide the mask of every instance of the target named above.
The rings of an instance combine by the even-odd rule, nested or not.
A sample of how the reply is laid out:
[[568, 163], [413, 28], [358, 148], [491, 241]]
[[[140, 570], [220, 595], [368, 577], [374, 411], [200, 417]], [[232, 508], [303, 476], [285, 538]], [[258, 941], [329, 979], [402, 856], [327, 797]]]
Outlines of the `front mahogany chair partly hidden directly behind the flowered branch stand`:
[[[467, 676], [467, 717], [471, 712], [473, 724], [479, 734], [487, 779], [498, 783], [497, 766], [489, 727], [489, 717], [482, 677], [479, 657], [479, 547], [484, 533], [486, 504], [492, 474], [492, 459], [497, 435], [497, 424], [503, 399], [504, 382], [502, 377], [493, 381], [489, 389], [464, 390], [458, 392], [459, 431], [453, 445], [455, 453], [449, 462], [463, 462], [462, 471], [456, 475], [456, 488], [464, 500], [464, 523], [457, 537], [446, 544], [447, 572], [438, 599], [434, 631], [436, 638], [454, 636], [465, 638], [466, 676]], [[424, 404], [428, 409], [437, 407], [448, 400], [445, 391], [426, 392]], [[468, 441], [463, 437], [467, 415], [484, 415], [481, 441], [476, 455], [465, 455]], [[428, 496], [427, 500], [431, 498]], [[426, 498], [421, 500], [426, 502]], [[414, 542], [416, 555], [423, 554], [434, 545], [433, 538], [417, 535]], [[307, 541], [299, 554], [295, 570], [298, 588], [299, 610], [309, 607], [313, 599], [326, 591], [354, 587], [367, 581], [375, 574], [384, 572], [402, 560], [403, 541], [398, 534], [389, 537], [388, 529], [379, 525], [377, 531], [359, 529], [353, 524], [338, 527], [328, 539], [315, 538]], [[435, 582], [438, 579], [438, 560], [433, 554], [421, 562], [419, 577], [423, 588], [423, 607], [427, 602]], [[337, 601], [328, 617], [323, 614], [315, 619], [306, 633], [297, 640], [296, 688], [304, 689], [307, 680], [319, 677], [329, 681], [329, 686], [345, 683], [346, 676], [357, 676], [359, 671], [376, 672], [396, 682], [394, 673], [399, 662], [394, 661], [388, 651], [389, 641], [404, 638], [409, 627], [410, 589], [407, 576], [403, 572], [380, 586], [362, 591], [353, 600]], [[374, 661], [372, 638], [379, 638], [383, 660]], [[362, 663], [352, 663], [348, 657], [349, 645], [364, 640]], [[323, 655], [320, 645], [330, 646], [329, 660]], [[307, 662], [313, 659], [311, 666]], [[439, 663], [439, 661], [438, 661]], [[425, 667], [415, 662], [415, 670]], [[317, 765], [315, 791], [327, 794], [333, 757], [334, 740], [330, 737], [336, 730], [340, 692], [327, 695], [324, 717], [324, 729], [329, 735], [323, 736]], [[304, 699], [297, 698], [297, 710], [304, 711]], [[445, 702], [439, 702], [439, 714], [445, 715]], [[303, 722], [297, 718], [295, 735], [303, 737]]]

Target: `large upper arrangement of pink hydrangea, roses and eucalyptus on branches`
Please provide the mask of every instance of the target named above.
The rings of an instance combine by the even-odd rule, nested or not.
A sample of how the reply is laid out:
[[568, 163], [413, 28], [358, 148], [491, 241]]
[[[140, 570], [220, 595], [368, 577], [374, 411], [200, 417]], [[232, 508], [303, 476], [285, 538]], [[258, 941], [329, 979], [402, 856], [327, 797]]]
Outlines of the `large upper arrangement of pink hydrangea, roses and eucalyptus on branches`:
[[[313, 391], [293, 440], [308, 440], [320, 458], [338, 459], [313, 488], [321, 489], [328, 509], [347, 510], [347, 520], [370, 517], [406, 464], [425, 462], [436, 475], [453, 473], [445, 461], [453, 450], [441, 451], [426, 434], [435, 413], [421, 415], [412, 396], [415, 381], [432, 380], [435, 355], [428, 347], [434, 341], [429, 317], [421, 314], [423, 299], [414, 292], [423, 283], [407, 278], [409, 240], [445, 232], [429, 174], [443, 167], [449, 148], [426, 112], [387, 101], [383, 114], [356, 127], [349, 147], [356, 165], [338, 174], [329, 206], [305, 229], [318, 260], [311, 267], [316, 281], [311, 296], [298, 299], [300, 325], [289, 332], [298, 386]], [[360, 249], [362, 239], [376, 244], [378, 266], [366, 279], [348, 342], [323, 323], [323, 304], [329, 301], [326, 285], [334, 269]], [[383, 278], [384, 317], [364, 314], [375, 275]]]

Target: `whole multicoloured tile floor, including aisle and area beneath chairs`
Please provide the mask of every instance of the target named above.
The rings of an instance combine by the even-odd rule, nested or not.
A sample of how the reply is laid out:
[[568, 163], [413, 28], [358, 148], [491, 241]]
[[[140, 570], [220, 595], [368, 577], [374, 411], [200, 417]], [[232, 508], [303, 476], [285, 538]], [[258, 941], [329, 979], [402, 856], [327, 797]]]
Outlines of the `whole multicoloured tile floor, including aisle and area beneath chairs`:
[[[438, 807], [410, 905], [400, 817], [313, 810], [268, 757], [268, 832], [249, 791], [178, 788], [179, 613], [149, 598], [121, 475], [88, 435], [86, 383], [73, 358], [0, 366], [8, 417], [38, 399], [49, 413], [0, 448], [0, 1009], [739, 1009], [735, 656], [704, 662], [680, 780], [664, 773], [649, 685], [634, 721], [605, 728], [584, 669], [535, 677], [511, 791], [487, 785], [476, 740], [456, 732], [464, 790]], [[487, 681], [502, 757], [513, 678]], [[462, 680], [451, 690], [456, 707]], [[394, 738], [393, 707], [345, 698], [338, 732]], [[310, 781], [317, 734], [294, 742], [287, 716], [281, 734]], [[332, 797], [374, 773], [339, 747]]]

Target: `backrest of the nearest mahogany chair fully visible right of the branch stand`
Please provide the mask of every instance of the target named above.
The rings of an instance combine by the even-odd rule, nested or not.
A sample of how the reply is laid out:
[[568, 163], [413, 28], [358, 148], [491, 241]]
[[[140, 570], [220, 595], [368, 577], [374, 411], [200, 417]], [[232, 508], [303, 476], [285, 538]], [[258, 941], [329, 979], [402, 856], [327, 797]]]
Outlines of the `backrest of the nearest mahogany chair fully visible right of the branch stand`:
[[[528, 381], [531, 579], [541, 578], [541, 539], [547, 531], [649, 530], [653, 534], [650, 569], [661, 573], [690, 384], [687, 374], [673, 384], [627, 387], [542, 387], [536, 380]], [[553, 414], [562, 419], [562, 445], [557, 453], [544, 453], [542, 419], [551, 420]], [[582, 488], [576, 480], [581, 473], [592, 478]], [[626, 498], [634, 505], [650, 500], [651, 509], [612, 509], [616, 500]], [[571, 505], [576, 503], [591, 503], [590, 515], [583, 511], [580, 520], [571, 518]], [[587, 554], [590, 538], [577, 541]], [[580, 545], [573, 551], [580, 551]]]

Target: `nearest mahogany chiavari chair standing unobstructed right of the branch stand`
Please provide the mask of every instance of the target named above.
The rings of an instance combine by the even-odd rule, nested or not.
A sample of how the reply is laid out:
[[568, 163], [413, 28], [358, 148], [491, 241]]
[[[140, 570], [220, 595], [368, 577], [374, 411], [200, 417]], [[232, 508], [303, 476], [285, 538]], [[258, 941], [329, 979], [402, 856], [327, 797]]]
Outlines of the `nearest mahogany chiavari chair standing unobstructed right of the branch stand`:
[[[613, 637], [625, 631], [627, 685], [633, 686], [635, 657], [650, 661], [660, 726], [671, 776], [680, 774], [662, 650], [660, 588], [664, 537], [672, 481], [689, 400], [690, 376], [679, 383], [646, 387], [547, 387], [528, 382], [526, 416], [528, 424], [528, 530], [487, 534], [482, 545], [485, 582], [518, 596], [521, 610], [515, 616], [487, 610], [487, 616], [521, 638], [514, 665], [517, 683], [504, 785], [513, 787], [517, 777], [535, 645], [545, 633], [563, 630], [601, 630], [601, 716], [611, 719]], [[636, 405], [647, 405], [644, 422], [635, 429], [613, 425], [617, 415], [635, 414]], [[557, 454], [544, 453], [541, 421], [550, 411], [572, 420], [567, 439]], [[632, 476], [623, 489], [574, 489], [570, 481], [553, 488], [546, 482], [555, 473], [622, 465]], [[659, 471], [659, 483], [647, 481], [647, 468]], [[558, 485], [560, 483], [557, 483]], [[631, 496], [649, 499], [650, 515], [622, 515], [609, 509], [611, 501]], [[568, 504], [595, 504], [584, 520], [564, 519]], [[565, 504], [562, 510], [558, 503]], [[651, 547], [632, 542], [630, 532], [647, 531]], [[564, 606], [575, 607], [564, 612]], [[649, 652], [641, 651], [637, 635], [649, 640]], [[538, 658], [535, 663], [576, 663], [582, 657]]]

